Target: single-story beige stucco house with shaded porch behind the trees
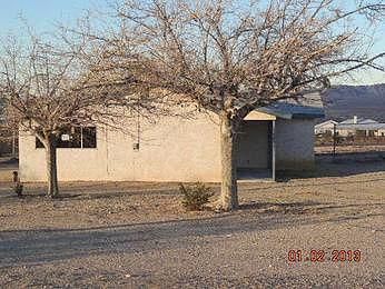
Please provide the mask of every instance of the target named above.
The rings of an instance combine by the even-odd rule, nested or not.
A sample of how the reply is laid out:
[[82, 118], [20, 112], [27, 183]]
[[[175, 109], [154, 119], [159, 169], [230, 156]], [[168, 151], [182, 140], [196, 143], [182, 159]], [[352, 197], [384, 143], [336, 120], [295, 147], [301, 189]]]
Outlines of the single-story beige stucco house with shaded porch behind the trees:
[[[314, 124], [318, 106], [279, 102], [245, 117], [238, 141], [238, 170], [275, 178], [276, 170], [314, 167]], [[139, 123], [140, 122], [140, 123]], [[103, 126], [72, 128], [58, 143], [60, 181], [220, 181], [219, 120], [210, 112], [194, 118], [138, 118], [132, 133]], [[45, 149], [26, 132], [19, 139], [22, 181], [45, 181]], [[258, 175], [263, 172], [261, 175]]]

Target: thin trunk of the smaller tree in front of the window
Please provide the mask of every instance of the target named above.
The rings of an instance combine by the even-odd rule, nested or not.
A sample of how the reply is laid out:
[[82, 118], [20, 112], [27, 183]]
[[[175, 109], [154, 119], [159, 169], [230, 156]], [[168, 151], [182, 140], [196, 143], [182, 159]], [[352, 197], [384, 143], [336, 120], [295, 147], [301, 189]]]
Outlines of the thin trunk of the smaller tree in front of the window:
[[58, 169], [57, 169], [57, 149], [52, 137], [48, 138], [46, 146], [46, 162], [47, 162], [47, 196], [52, 199], [59, 196], [58, 187]]

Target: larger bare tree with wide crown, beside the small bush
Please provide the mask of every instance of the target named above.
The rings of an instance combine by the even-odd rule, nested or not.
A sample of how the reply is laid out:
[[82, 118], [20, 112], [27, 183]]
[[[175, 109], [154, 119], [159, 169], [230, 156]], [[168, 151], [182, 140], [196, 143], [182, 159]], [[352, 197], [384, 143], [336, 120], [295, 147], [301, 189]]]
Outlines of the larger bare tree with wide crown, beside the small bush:
[[[224, 210], [237, 208], [237, 130], [251, 110], [324, 89], [359, 68], [384, 69], [364, 26], [383, 1], [347, 10], [336, 0], [117, 1], [117, 34], [140, 54], [151, 86], [182, 94], [220, 119]], [[359, 18], [359, 26], [357, 20]], [[365, 26], [367, 28], [367, 26]], [[119, 40], [115, 39], [115, 43]]]

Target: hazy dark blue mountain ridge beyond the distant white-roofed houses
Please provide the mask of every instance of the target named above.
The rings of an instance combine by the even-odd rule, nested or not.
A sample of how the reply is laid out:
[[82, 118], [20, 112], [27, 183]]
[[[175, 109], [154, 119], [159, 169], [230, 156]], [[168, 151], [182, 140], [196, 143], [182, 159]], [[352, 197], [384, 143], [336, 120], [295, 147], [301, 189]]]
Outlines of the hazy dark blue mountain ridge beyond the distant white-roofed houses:
[[322, 98], [326, 119], [343, 120], [357, 116], [385, 122], [385, 83], [336, 86]]

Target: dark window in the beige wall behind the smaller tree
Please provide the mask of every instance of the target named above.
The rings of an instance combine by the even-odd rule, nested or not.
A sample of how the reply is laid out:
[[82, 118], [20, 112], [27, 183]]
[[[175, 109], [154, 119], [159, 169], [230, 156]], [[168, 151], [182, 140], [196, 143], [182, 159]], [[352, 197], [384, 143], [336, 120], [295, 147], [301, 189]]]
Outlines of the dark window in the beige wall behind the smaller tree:
[[[96, 127], [71, 127], [63, 130], [57, 138], [57, 148], [96, 148]], [[36, 138], [36, 148], [43, 148], [41, 141]]]

